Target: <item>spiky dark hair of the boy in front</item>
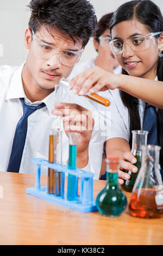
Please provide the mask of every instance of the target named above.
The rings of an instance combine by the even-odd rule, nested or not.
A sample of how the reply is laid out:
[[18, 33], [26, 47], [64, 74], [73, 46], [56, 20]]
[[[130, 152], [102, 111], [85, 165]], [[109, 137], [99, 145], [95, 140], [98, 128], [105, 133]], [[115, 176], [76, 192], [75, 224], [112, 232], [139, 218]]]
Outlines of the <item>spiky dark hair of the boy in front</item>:
[[34, 33], [41, 26], [49, 33], [55, 27], [73, 40], [82, 39], [83, 46], [95, 36], [97, 17], [87, 0], [32, 0], [27, 7], [32, 11], [28, 26]]

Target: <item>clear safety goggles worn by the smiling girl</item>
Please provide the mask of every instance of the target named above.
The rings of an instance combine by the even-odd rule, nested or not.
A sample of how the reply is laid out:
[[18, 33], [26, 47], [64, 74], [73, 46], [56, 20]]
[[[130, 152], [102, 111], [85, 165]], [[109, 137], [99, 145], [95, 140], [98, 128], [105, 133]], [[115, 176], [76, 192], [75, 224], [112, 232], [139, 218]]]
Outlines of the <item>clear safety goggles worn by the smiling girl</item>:
[[146, 35], [134, 35], [125, 39], [114, 39], [110, 41], [110, 48], [114, 55], [122, 54], [124, 45], [127, 44], [134, 52], [142, 52], [151, 45], [152, 36], [159, 35], [162, 32], [149, 33]]

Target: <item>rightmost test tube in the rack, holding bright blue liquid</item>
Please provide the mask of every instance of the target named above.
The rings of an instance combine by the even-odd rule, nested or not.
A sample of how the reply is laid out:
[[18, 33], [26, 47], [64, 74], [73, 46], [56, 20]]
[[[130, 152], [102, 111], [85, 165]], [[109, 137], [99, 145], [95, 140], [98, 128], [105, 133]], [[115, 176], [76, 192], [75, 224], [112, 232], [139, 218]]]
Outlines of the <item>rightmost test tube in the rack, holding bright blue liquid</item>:
[[[69, 157], [68, 157], [68, 169], [76, 170], [77, 166], [77, 139], [78, 133], [68, 133], [69, 138]], [[72, 174], [68, 174], [68, 187], [67, 187], [67, 200], [74, 201], [78, 194], [78, 177]]]

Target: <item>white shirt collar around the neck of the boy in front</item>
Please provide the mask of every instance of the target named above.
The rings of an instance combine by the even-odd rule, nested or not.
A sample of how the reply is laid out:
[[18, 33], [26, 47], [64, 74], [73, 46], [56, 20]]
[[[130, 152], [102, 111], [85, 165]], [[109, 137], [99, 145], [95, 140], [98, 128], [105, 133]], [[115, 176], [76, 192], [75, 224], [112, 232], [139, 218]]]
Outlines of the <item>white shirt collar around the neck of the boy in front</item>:
[[31, 102], [30, 100], [27, 99], [26, 94], [24, 93], [23, 84], [22, 84], [22, 69], [24, 64], [25, 62], [15, 71], [14, 75], [12, 76], [6, 100], [24, 98], [24, 101], [27, 103], [27, 105], [31, 105], [31, 106], [38, 106], [42, 102], [44, 102], [48, 109], [49, 114], [52, 114], [52, 110], [54, 108], [54, 92], [49, 94], [42, 101]]

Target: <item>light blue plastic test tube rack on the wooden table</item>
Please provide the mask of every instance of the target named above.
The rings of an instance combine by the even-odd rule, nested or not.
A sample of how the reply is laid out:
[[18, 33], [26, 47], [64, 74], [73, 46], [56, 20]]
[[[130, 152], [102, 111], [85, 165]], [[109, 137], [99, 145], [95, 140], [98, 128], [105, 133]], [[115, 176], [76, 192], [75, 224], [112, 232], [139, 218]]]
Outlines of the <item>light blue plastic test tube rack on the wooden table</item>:
[[[27, 194], [47, 200], [49, 202], [65, 206], [80, 212], [97, 211], [96, 200], [93, 199], [93, 173], [76, 168], [75, 170], [68, 169], [68, 166], [59, 163], [49, 163], [43, 159], [32, 159], [32, 162], [37, 164], [35, 187], [28, 187]], [[41, 166], [47, 166], [54, 169], [56, 172], [72, 174], [80, 179], [80, 192], [78, 194], [78, 187], [76, 199], [73, 201], [67, 200], [67, 192], [64, 190], [64, 196], [55, 196], [47, 192], [47, 186], [41, 186]]]

